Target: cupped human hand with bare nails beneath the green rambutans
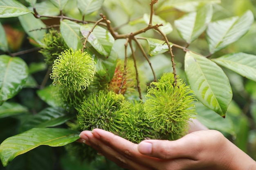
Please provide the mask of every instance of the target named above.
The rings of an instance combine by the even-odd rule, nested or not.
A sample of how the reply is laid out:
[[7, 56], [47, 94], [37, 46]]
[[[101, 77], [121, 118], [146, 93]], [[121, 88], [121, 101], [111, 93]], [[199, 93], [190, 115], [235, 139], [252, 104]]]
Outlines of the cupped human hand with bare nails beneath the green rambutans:
[[[255, 161], [215, 130], [196, 131], [175, 141], [134, 144], [102, 129], [83, 131], [80, 142], [122, 168], [134, 170], [253, 170]], [[86, 140], [86, 141], [85, 141]]]

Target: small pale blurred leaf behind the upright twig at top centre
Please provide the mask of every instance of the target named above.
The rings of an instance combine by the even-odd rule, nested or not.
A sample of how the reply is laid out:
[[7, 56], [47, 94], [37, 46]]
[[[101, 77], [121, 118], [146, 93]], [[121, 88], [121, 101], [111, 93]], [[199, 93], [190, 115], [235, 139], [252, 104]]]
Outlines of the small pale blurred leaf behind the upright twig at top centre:
[[[144, 22], [146, 24], [149, 23], [150, 20], [150, 15], [148, 15], [147, 13], [145, 13], [143, 15], [143, 19]], [[163, 20], [161, 17], [159, 17], [158, 15], [153, 15], [152, 18], [152, 24], [156, 25], [156, 24], [163, 24], [163, 26], [159, 26], [159, 30], [161, 30], [165, 35], [168, 35], [169, 33], [171, 33], [173, 31], [173, 27], [170, 24], [170, 22], [166, 22], [165, 20]]]

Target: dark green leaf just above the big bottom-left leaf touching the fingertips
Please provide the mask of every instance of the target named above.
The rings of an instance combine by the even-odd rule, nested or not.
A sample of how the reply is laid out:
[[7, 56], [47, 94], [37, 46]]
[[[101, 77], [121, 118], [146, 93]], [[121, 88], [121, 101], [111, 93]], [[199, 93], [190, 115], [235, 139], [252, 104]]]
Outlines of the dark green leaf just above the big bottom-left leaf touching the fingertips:
[[61, 108], [48, 107], [36, 115], [32, 115], [30, 118], [27, 118], [25, 122], [22, 123], [22, 131], [27, 131], [32, 128], [45, 128], [45, 127], [54, 127], [60, 124], [67, 122], [74, 118], [74, 115], [67, 114]]

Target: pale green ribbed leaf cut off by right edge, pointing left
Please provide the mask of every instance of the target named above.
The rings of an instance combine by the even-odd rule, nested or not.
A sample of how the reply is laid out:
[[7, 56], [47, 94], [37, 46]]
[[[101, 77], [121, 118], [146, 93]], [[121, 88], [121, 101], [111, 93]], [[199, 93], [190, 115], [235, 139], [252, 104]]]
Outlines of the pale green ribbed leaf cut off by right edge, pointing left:
[[213, 61], [246, 78], [256, 81], [256, 56], [243, 52], [227, 54]]

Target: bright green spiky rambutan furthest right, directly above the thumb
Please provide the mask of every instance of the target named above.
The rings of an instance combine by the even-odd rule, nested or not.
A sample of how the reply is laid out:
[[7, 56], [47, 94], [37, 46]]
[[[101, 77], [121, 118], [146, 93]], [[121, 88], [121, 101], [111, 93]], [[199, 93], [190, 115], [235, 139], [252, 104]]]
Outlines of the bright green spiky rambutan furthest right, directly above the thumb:
[[165, 73], [158, 82], [151, 83], [144, 110], [154, 130], [161, 133], [163, 139], [175, 140], [185, 135], [188, 121], [196, 114], [194, 96], [179, 77], [175, 85], [173, 73]]

